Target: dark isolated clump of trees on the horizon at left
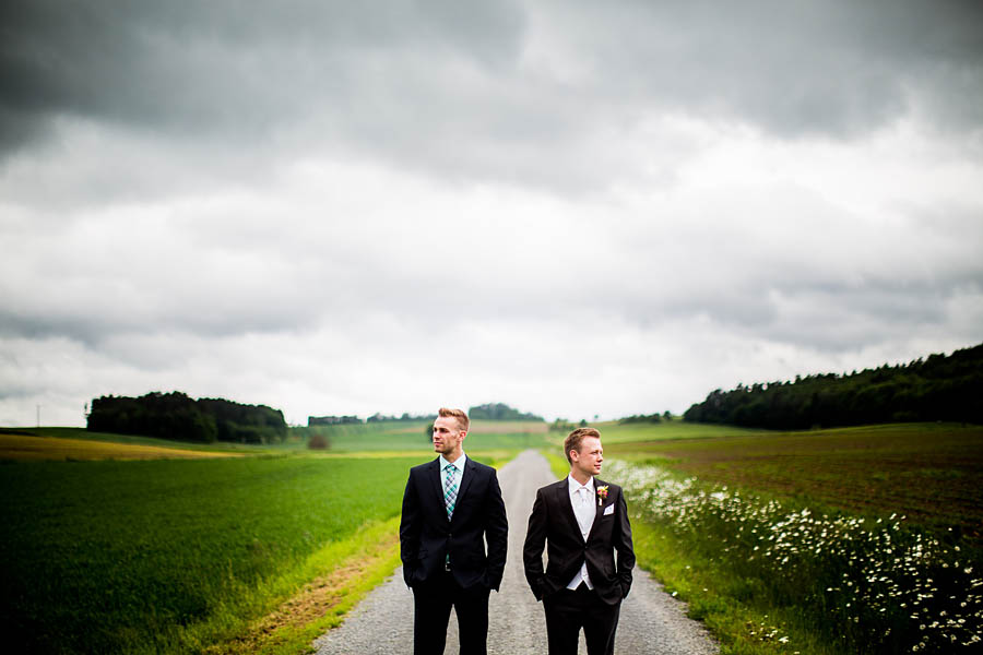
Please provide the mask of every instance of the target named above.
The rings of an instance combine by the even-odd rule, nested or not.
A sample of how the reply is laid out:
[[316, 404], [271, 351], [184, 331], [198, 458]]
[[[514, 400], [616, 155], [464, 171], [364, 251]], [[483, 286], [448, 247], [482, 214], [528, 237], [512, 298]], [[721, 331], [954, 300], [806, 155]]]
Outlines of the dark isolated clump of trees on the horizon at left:
[[286, 439], [283, 412], [224, 398], [194, 400], [179, 391], [92, 401], [86, 428], [176, 441], [272, 443]]

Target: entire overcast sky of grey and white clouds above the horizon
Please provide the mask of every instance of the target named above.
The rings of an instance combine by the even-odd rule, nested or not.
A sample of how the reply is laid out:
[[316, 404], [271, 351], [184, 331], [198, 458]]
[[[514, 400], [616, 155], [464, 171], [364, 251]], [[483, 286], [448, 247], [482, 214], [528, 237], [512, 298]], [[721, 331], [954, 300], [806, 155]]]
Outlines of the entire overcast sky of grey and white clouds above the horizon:
[[981, 8], [7, 0], [0, 425], [617, 418], [983, 342]]

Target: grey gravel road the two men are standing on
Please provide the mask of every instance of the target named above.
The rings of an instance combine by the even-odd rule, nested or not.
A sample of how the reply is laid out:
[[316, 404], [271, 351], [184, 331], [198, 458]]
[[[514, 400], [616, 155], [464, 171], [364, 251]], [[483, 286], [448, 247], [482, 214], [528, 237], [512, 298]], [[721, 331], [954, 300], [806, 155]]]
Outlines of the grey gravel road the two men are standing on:
[[[499, 472], [509, 516], [509, 556], [501, 593], [489, 603], [488, 653], [545, 655], [546, 622], [522, 572], [522, 543], [536, 489], [554, 481], [546, 458], [525, 451]], [[617, 480], [612, 480], [617, 483]], [[615, 640], [616, 655], [704, 655], [718, 653], [701, 623], [688, 619], [684, 604], [636, 569]], [[453, 612], [452, 612], [453, 614]], [[458, 624], [451, 618], [446, 654], [458, 652]], [[392, 655], [413, 652], [413, 594], [402, 569], [376, 587], [339, 628], [313, 643], [318, 655]], [[585, 655], [583, 634], [580, 654]]]

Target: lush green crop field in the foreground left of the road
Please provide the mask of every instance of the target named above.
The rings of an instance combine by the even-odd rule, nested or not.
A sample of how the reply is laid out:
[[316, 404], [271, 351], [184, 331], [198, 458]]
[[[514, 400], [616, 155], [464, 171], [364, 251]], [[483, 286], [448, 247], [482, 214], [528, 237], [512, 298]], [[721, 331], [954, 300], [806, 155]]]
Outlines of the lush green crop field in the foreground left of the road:
[[14, 652], [185, 653], [308, 582], [305, 562], [398, 516], [429, 457], [0, 466], [0, 626]]

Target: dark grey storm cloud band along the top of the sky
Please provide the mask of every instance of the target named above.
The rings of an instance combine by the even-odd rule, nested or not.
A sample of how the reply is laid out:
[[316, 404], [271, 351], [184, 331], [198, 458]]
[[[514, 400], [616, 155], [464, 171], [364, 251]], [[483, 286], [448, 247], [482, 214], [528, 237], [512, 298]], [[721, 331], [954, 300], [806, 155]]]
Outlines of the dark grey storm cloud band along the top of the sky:
[[441, 176], [538, 171], [577, 187], [585, 174], [550, 155], [582, 156], [660, 112], [793, 139], [846, 138], [912, 111], [972, 130], [983, 112], [983, 9], [971, 1], [13, 1], [2, 12], [8, 156], [68, 116], [258, 156], [313, 135]]

